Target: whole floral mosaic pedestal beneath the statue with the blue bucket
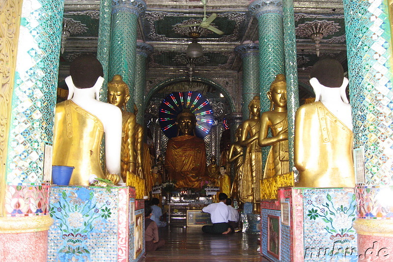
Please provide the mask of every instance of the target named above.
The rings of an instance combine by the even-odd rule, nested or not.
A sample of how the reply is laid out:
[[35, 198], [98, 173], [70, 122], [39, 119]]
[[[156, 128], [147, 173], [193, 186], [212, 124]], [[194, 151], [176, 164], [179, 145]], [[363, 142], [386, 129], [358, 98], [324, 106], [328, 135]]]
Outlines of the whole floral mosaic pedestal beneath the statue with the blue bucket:
[[48, 261], [140, 260], [143, 210], [133, 187], [53, 186]]

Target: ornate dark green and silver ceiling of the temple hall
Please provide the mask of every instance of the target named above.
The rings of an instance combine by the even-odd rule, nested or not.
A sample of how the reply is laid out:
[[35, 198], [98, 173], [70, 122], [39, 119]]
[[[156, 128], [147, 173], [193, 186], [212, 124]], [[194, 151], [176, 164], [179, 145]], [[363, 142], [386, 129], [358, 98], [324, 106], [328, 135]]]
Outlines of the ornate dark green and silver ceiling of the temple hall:
[[[154, 48], [149, 54], [148, 70], [187, 75], [186, 49], [191, 42], [190, 27], [203, 18], [200, 0], [145, 0], [147, 9], [138, 22], [138, 40]], [[218, 35], [200, 30], [198, 43], [203, 56], [196, 61], [196, 73], [240, 72], [242, 60], [233, 52], [242, 43], [258, 41], [258, 22], [248, 11], [249, 0], [208, 0], [206, 16], [216, 13], [212, 25], [224, 32]], [[60, 55], [59, 79], [66, 76], [67, 66], [82, 53], [96, 53], [99, 24], [99, 0], [65, 0], [63, 21], [70, 36]], [[296, 49], [300, 97], [309, 96], [310, 67], [323, 56], [337, 58], [347, 68], [345, 26], [342, 0], [294, 0]], [[320, 40], [319, 57], [310, 34], [315, 28], [324, 32]]]

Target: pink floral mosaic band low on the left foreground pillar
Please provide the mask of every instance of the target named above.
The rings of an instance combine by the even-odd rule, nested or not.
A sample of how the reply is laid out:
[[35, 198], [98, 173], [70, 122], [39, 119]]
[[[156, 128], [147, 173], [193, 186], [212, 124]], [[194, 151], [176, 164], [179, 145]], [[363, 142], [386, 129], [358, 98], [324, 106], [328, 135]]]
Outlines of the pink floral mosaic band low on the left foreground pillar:
[[6, 216], [47, 215], [49, 184], [7, 185], [5, 189]]

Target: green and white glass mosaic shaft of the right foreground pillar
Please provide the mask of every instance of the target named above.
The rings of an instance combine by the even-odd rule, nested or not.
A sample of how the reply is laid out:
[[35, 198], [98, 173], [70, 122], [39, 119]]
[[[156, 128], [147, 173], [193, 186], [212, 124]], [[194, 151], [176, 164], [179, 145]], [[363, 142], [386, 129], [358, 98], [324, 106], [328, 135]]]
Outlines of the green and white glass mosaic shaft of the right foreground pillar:
[[365, 183], [393, 185], [392, 40], [387, 1], [344, 0], [354, 147], [364, 146]]

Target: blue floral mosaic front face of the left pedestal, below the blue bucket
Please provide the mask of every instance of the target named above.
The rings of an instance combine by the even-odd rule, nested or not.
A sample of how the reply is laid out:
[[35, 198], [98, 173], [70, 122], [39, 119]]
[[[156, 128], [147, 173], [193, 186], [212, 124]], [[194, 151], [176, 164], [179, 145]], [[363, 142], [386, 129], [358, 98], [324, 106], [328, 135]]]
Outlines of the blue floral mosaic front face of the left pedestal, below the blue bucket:
[[[49, 230], [48, 261], [118, 261], [118, 237], [128, 223], [119, 213], [127, 188], [54, 186], [50, 191], [50, 214], [55, 220]], [[127, 203], [124, 202], [124, 203]], [[124, 204], [123, 203], [123, 204]], [[124, 212], [124, 210], [122, 211]], [[128, 213], [125, 214], [129, 216]], [[124, 224], [124, 225], [123, 225]], [[121, 233], [120, 225], [126, 231]], [[119, 235], [119, 233], [121, 233]], [[124, 236], [123, 236], [124, 235]], [[123, 245], [122, 244], [122, 245]], [[126, 251], [125, 251], [126, 252]], [[126, 254], [121, 256], [125, 259]], [[123, 260], [120, 260], [123, 261]]]

